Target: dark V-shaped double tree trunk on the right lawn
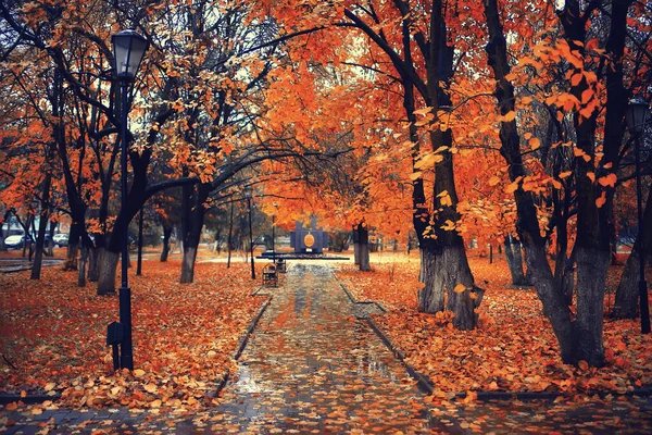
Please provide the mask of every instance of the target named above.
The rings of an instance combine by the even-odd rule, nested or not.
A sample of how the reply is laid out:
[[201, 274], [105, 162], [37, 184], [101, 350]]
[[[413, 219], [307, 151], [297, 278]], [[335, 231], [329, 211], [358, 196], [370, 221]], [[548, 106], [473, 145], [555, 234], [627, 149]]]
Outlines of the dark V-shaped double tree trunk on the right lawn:
[[[514, 88], [507, 79], [510, 64], [507, 62], [506, 39], [499, 18], [496, 0], [485, 0], [485, 14], [487, 16], [490, 41], [486, 47], [488, 64], [493, 70], [497, 80], [494, 96], [502, 115], [515, 110]], [[557, 12], [572, 50], [581, 52], [581, 42], [586, 38], [586, 17], [581, 16], [578, 2], [566, 2], [564, 11]], [[613, 23], [612, 23], [613, 26]], [[586, 89], [586, 80], [573, 86], [573, 94], [577, 97]], [[604, 301], [604, 283], [606, 266], [609, 264], [609, 234], [607, 225], [599, 216], [595, 206], [595, 186], [588, 177], [594, 171], [592, 161], [594, 157], [595, 112], [588, 119], [580, 119], [575, 114], [574, 127], [577, 135], [577, 147], [589, 159], [577, 159], [577, 315], [572, 320], [572, 313], [566, 304], [562, 288], [552, 275], [546, 256], [546, 240], [540, 235], [537, 210], [530, 192], [518, 188], [514, 191], [518, 220], [516, 228], [524, 244], [528, 272], [537, 288], [537, 294], [543, 304], [543, 311], [560, 343], [562, 359], [565, 363], [577, 364], [586, 361], [593, 366], [604, 363], [604, 348], [602, 345], [602, 316]], [[500, 124], [501, 154], [509, 164], [510, 179], [519, 181], [526, 176], [521, 153], [521, 137], [516, 122], [503, 121]]]

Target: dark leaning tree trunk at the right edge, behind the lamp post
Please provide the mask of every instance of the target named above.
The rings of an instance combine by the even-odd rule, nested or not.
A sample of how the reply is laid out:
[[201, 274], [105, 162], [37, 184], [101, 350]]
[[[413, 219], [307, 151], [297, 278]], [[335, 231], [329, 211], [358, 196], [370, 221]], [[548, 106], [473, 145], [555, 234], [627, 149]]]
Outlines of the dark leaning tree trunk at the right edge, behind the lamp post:
[[[634, 243], [634, 249], [627, 258], [627, 263], [623, 269], [618, 289], [616, 290], [616, 300], [612, 316], [615, 319], [635, 319], [639, 311], [639, 268], [641, 252], [644, 259], [650, 256], [652, 246], [652, 188], [648, 194], [645, 210], [643, 212], [643, 237], [639, 235]], [[641, 245], [642, 244], [642, 245]]]

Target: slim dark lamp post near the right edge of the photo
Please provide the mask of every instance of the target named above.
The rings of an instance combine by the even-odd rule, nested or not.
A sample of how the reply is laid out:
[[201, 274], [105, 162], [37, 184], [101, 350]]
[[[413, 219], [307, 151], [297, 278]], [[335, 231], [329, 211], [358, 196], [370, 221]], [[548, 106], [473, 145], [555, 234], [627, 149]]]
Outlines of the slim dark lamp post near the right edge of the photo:
[[641, 135], [645, 129], [645, 122], [649, 113], [648, 103], [641, 98], [634, 98], [629, 101], [625, 112], [627, 128], [635, 140], [636, 154], [636, 200], [638, 208], [638, 246], [639, 251], [639, 301], [641, 310], [641, 333], [650, 333], [650, 307], [648, 304], [648, 283], [645, 283], [645, 256], [643, 254], [643, 207], [641, 191]]

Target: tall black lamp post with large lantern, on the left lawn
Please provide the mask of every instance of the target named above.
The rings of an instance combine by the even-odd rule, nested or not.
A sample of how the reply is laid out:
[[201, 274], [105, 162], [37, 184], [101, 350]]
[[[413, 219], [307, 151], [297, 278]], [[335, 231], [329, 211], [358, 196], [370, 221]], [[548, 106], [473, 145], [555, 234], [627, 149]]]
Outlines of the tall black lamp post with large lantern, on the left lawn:
[[127, 277], [128, 268], [128, 228], [127, 219], [127, 119], [129, 112], [128, 90], [129, 85], [136, 79], [142, 55], [149, 42], [134, 30], [123, 30], [111, 37], [113, 57], [115, 59], [115, 77], [120, 80], [121, 103], [121, 210], [123, 216], [122, 227], [122, 286], [120, 287], [120, 323], [122, 325], [122, 343], [120, 368], [134, 370], [134, 351], [131, 344], [131, 289]]

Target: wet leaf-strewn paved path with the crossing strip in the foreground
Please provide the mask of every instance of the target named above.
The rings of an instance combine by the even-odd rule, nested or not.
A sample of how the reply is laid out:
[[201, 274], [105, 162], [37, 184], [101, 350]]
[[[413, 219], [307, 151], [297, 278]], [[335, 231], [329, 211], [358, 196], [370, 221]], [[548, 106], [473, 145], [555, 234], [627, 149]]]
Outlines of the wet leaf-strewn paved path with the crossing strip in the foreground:
[[[0, 411], [7, 433], [652, 433], [649, 398], [429, 405], [324, 263], [293, 263], [222, 391], [196, 414]], [[22, 412], [21, 412], [22, 411]], [[8, 421], [11, 424], [7, 425]], [[3, 427], [4, 425], [4, 427]]]

